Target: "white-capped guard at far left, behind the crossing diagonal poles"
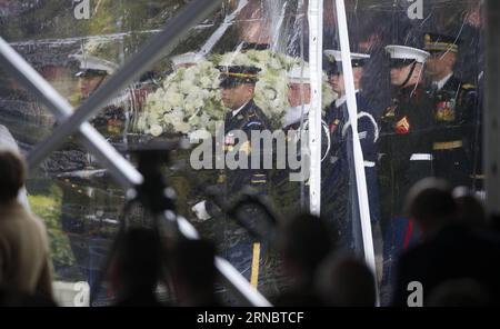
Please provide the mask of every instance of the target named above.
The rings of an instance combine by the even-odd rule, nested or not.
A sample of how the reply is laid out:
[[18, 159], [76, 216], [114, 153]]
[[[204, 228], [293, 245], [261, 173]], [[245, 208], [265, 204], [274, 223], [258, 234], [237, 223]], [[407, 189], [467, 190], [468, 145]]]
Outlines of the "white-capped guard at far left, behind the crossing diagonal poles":
[[[72, 54], [71, 58], [80, 62], [80, 70], [76, 74], [80, 83], [80, 102], [87, 100], [119, 68], [118, 64], [111, 61], [89, 54]], [[126, 121], [123, 108], [111, 103], [90, 122], [104, 137], [110, 138], [120, 136], [124, 129]]]

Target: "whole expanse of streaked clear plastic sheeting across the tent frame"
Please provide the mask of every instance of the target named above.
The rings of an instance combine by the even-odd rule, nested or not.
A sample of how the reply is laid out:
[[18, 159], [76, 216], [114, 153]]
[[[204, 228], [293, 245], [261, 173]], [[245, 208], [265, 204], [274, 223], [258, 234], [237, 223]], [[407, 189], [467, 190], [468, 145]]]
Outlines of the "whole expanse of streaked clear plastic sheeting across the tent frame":
[[[1, 37], [74, 108], [187, 6], [84, 2], [0, 3]], [[317, 22], [307, 0], [226, 0], [89, 122], [133, 164], [131, 149], [163, 143], [177, 212], [270, 300], [292, 283], [273, 243], [277, 225], [320, 210], [341, 252], [366, 259], [371, 233], [380, 301], [388, 305], [393, 261], [418, 241], [402, 211], [409, 187], [438, 176], [482, 190], [480, 2], [344, 1], [350, 63], [343, 63], [334, 0], [322, 1]], [[313, 71], [312, 50], [322, 72]], [[357, 110], [347, 101], [347, 66]], [[0, 124], [29, 153], [56, 119], [3, 71], [0, 81]], [[313, 104], [321, 120], [309, 122]], [[171, 144], [179, 147], [169, 152]], [[31, 172], [27, 190], [51, 230], [57, 279], [87, 281], [99, 290], [93, 305], [112, 302], [106, 280], [92, 286], [104, 273], [126, 191], [76, 137]], [[319, 209], [311, 209], [311, 191], [321, 192]], [[133, 226], [150, 226], [144, 213], [127, 215]], [[371, 226], [364, 239], [361, 218]], [[217, 290], [237, 303], [224, 287]]]

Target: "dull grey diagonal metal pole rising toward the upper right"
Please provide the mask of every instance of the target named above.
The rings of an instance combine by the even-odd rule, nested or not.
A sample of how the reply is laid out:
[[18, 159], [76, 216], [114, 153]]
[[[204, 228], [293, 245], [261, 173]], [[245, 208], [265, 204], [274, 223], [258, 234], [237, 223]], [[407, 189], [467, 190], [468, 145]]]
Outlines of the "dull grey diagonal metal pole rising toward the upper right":
[[212, 13], [222, 0], [197, 0], [169, 20], [162, 31], [136, 53], [126, 66], [114, 73], [108, 82], [99, 88], [73, 116], [61, 123], [53, 133], [28, 156], [30, 167], [39, 164], [48, 154], [59, 148], [68, 136], [74, 133], [81, 123], [89, 120], [121, 89], [126, 88], [141, 72], [156, 63], [164, 53], [170, 52], [189, 30]]

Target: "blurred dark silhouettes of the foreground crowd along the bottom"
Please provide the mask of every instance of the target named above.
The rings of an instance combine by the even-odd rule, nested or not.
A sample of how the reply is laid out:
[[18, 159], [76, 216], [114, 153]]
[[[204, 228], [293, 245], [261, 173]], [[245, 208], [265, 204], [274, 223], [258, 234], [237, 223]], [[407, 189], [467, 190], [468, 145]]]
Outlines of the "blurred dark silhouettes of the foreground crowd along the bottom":
[[[47, 232], [17, 200], [26, 170], [13, 151], [0, 152], [0, 305], [57, 306], [51, 292]], [[500, 296], [500, 235], [472, 193], [426, 178], [414, 185], [406, 213], [421, 232], [397, 260], [390, 306], [406, 307], [418, 282], [422, 306], [496, 306]], [[271, 241], [282, 257], [289, 289], [272, 300], [282, 307], [374, 307], [377, 280], [362, 259], [338, 248], [334, 230], [311, 215], [279, 222]], [[120, 235], [107, 270], [117, 307], [222, 307], [216, 293], [216, 248], [208, 240], [167, 239], [152, 228]], [[159, 298], [158, 287], [172, 298]]]

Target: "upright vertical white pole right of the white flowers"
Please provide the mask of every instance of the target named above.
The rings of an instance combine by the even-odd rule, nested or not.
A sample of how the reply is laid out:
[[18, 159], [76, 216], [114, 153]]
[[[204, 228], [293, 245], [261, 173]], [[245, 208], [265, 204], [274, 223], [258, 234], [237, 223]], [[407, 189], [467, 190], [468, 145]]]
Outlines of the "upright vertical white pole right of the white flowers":
[[321, 87], [323, 49], [323, 0], [309, 1], [309, 68], [311, 74], [311, 110], [309, 111], [309, 205], [312, 215], [321, 213]]

